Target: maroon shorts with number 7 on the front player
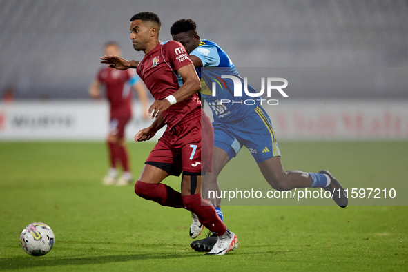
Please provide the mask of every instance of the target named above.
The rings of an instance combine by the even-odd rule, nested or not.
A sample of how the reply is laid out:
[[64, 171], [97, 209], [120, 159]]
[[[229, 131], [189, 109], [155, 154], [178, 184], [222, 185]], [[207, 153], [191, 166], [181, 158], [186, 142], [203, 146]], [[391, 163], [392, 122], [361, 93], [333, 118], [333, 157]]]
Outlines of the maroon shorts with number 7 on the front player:
[[169, 175], [211, 172], [214, 132], [211, 120], [202, 111], [193, 118], [166, 130], [150, 152], [145, 164]]

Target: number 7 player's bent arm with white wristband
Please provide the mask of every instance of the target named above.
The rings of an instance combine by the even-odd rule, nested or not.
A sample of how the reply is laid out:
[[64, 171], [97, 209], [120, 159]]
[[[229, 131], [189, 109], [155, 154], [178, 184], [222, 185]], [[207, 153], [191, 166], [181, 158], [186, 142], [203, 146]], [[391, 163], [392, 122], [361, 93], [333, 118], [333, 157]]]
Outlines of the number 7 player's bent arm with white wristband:
[[201, 90], [200, 79], [195, 72], [193, 64], [183, 66], [179, 68], [177, 72], [179, 72], [179, 75], [184, 80], [184, 84], [172, 94], [173, 97], [170, 99], [156, 100], [152, 106], [150, 106], [148, 114], [151, 114], [152, 119], [157, 117], [157, 113], [163, 113], [164, 110], [167, 110], [171, 105], [184, 101]]

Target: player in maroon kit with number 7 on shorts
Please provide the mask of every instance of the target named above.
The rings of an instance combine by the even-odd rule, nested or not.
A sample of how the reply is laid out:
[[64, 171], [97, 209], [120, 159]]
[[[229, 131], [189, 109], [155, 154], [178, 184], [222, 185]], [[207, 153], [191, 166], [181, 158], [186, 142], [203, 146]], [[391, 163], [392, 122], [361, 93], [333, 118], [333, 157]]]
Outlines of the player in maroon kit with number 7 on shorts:
[[[148, 110], [155, 121], [140, 130], [135, 141], [148, 140], [167, 125], [146, 159], [135, 193], [162, 206], [187, 208], [195, 213], [204, 226], [217, 234], [217, 243], [207, 254], [224, 255], [237, 247], [238, 240], [200, 193], [202, 171], [211, 171], [213, 145], [211, 121], [197, 96], [200, 79], [181, 43], [159, 41], [160, 26], [159, 17], [152, 12], [141, 12], [130, 19], [133, 48], [145, 54], [137, 65], [137, 74], [155, 98]], [[182, 86], [177, 81], [178, 74], [183, 79]], [[211, 141], [202, 141], [201, 130]], [[161, 183], [168, 175], [181, 173], [182, 193]]]

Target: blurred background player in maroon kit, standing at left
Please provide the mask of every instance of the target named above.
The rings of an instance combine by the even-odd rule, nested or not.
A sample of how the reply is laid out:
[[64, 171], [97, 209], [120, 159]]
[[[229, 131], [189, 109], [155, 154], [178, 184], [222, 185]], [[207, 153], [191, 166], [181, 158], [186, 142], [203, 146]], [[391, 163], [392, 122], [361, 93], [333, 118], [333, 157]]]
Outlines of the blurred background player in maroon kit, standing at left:
[[[104, 47], [104, 55], [120, 56], [119, 44], [108, 42]], [[101, 88], [106, 90], [106, 97], [110, 104], [110, 124], [108, 134], [108, 150], [110, 169], [102, 179], [104, 185], [128, 185], [132, 181], [130, 173], [129, 156], [124, 139], [125, 126], [132, 118], [132, 88], [137, 91], [137, 96], [142, 105], [143, 117], [148, 118], [148, 98], [144, 84], [137, 77], [134, 70], [116, 70], [108, 66], [101, 68], [93, 84], [89, 88], [90, 96], [101, 97]], [[122, 164], [122, 176], [118, 177], [117, 166]]]

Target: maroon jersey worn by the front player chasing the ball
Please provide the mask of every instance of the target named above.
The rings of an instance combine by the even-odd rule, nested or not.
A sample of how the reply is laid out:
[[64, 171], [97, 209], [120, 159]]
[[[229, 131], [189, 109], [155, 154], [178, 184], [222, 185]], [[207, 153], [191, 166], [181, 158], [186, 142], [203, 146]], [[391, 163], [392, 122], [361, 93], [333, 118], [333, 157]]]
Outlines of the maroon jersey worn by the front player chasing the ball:
[[[144, 81], [156, 100], [162, 100], [180, 88], [177, 81], [179, 68], [193, 62], [181, 43], [165, 41], [148, 52], [137, 66], [137, 74]], [[201, 115], [201, 102], [197, 94], [164, 110], [164, 122], [168, 128]]]

